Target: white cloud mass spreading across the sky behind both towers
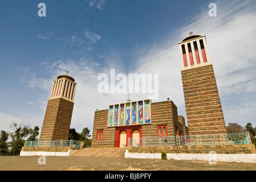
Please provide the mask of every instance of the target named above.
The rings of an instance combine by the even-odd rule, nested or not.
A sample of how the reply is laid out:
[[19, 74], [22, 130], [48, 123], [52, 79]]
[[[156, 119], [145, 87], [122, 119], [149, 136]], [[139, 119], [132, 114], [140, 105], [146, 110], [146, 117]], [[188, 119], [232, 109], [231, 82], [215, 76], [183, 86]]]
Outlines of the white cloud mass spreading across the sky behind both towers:
[[[96, 1], [94, 1], [96, 3]], [[198, 15], [185, 22], [185, 26], [177, 27], [176, 32], [164, 38], [163, 42], [148, 49], [145, 53], [136, 52], [136, 64], [123, 63], [122, 51], [110, 51], [104, 55], [105, 67], [98, 67], [97, 63], [86, 59], [59, 60], [43, 64], [51, 77], [38, 78], [35, 73], [28, 74], [31, 89], [39, 88], [47, 95], [51, 92], [52, 81], [67, 70], [77, 82], [75, 106], [72, 115], [71, 127], [81, 132], [84, 127], [92, 131], [94, 111], [107, 109], [109, 104], [123, 102], [126, 94], [99, 94], [97, 92], [97, 75], [109, 74], [110, 68], [123, 73], [159, 73], [159, 98], [164, 101], [170, 98], [177, 105], [178, 114], [185, 116], [185, 104], [181, 81], [181, 63], [177, 43], [188, 36], [189, 31], [194, 34], [206, 35], [210, 60], [217, 80], [218, 90], [226, 123], [237, 121], [237, 118], [255, 118], [255, 32], [256, 11], [253, 3], [232, 1], [232, 4], [217, 1], [217, 17], [208, 16], [208, 6], [199, 11]], [[85, 28], [84, 36], [92, 44], [101, 39], [101, 36]], [[73, 41], [75, 41], [75, 37]], [[124, 54], [126, 52], [123, 52]], [[127, 53], [126, 53], [127, 54]], [[133, 56], [133, 55], [131, 55]], [[99, 56], [100, 57], [100, 56]], [[118, 64], [117, 64], [118, 63]], [[126, 67], [125, 67], [126, 65]], [[128, 69], [126, 69], [129, 67]], [[40, 83], [40, 84], [39, 84]], [[231, 96], [231, 97], [230, 97]], [[243, 97], [241, 97], [243, 96]], [[131, 94], [131, 100], [147, 98], [146, 94]], [[239, 103], [236, 100], [239, 99]], [[48, 95], [45, 97], [48, 100]], [[42, 110], [46, 109], [46, 101], [41, 99]], [[250, 101], [250, 102], [249, 102]], [[243, 107], [239, 109], [239, 107]], [[244, 120], [244, 119], [243, 119]], [[39, 119], [39, 121], [43, 121]], [[251, 122], [255, 125], [255, 121]], [[244, 124], [241, 125], [244, 126]], [[239, 122], [238, 122], [239, 123]]]

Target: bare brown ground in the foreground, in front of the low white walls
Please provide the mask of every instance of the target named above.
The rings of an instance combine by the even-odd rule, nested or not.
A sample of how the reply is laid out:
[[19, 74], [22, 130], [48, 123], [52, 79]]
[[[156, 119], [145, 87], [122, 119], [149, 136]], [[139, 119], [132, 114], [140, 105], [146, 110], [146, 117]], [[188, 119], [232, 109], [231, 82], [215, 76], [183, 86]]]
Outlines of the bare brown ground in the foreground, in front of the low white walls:
[[[256, 171], [253, 163], [77, 156], [0, 156], [1, 171]], [[38, 162], [39, 160], [39, 162]], [[39, 164], [43, 163], [45, 164]]]

